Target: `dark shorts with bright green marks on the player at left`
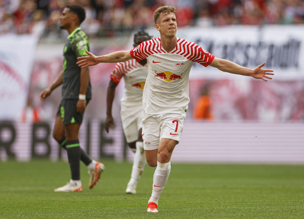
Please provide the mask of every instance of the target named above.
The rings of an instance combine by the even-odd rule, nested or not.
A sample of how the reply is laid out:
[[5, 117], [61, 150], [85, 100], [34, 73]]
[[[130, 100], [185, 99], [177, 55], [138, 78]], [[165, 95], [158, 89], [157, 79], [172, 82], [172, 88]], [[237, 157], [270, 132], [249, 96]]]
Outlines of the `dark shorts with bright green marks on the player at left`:
[[[77, 112], [76, 104], [78, 99], [75, 100], [61, 100], [56, 117], [61, 116], [64, 125], [77, 123], [81, 124], [83, 113]], [[87, 105], [90, 100], [87, 100]]]

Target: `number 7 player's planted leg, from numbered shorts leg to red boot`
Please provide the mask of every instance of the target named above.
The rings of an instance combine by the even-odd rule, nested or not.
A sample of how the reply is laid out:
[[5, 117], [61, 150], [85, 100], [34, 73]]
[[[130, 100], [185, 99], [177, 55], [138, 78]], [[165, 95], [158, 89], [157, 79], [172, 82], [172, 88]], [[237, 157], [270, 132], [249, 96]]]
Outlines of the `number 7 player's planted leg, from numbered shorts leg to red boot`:
[[171, 155], [178, 144], [185, 115], [161, 115], [161, 141], [157, 149], [157, 167], [153, 176], [152, 195], [148, 202], [147, 212], [158, 212], [157, 204], [167, 183], [171, 171]]

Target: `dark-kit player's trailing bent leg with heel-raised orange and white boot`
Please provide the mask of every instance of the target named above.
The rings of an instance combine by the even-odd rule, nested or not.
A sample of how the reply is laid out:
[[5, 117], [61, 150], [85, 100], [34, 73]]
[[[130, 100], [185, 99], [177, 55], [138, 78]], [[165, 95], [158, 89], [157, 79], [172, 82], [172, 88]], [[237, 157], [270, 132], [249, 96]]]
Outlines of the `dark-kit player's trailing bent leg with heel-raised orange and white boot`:
[[[53, 138], [59, 143], [61, 147], [66, 149], [66, 139], [64, 134], [64, 124], [62, 122], [61, 113], [64, 116], [64, 110], [61, 110], [62, 104], [60, 103], [57, 114], [56, 120], [53, 130]], [[80, 149], [80, 160], [87, 166], [90, 174], [90, 182], [89, 188], [92, 189], [96, 182], [100, 178], [100, 174], [102, 173], [104, 166], [102, 163], [91, 159], [91, 157], [85, 152], [81, 147]]]

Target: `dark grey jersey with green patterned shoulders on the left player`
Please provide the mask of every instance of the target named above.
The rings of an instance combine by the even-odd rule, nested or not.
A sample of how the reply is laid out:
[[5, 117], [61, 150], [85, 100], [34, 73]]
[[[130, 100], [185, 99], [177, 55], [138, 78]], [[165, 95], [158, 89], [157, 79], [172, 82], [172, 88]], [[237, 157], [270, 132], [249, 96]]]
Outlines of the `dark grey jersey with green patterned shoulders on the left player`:
[[[64, 46], [62, 99], [78, 99], [81, 68], [78, 67], [76, 62], [78, 57], [88, 55], [85, 50], [89, 50], [88, 37], [78, 27], [67, 37]], [[89, 80], [86, 98], [91, 99], [91, 97], [91, 83]]]

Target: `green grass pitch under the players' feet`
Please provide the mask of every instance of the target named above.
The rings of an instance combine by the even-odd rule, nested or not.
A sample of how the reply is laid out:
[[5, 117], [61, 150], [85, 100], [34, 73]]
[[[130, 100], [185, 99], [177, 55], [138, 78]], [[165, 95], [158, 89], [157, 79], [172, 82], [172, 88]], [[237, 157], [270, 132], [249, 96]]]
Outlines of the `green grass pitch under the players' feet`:
[[132, 163], [101, 160], [90, 190], [54, 193], [70, 179], [68, 163], [0, 162], [0, 218], [304, 218], [303, 165], [171, 164], [158, 202], [147, 213], [154, 169], [146, 165], [137, 194], [125, 194]]

